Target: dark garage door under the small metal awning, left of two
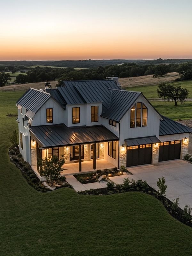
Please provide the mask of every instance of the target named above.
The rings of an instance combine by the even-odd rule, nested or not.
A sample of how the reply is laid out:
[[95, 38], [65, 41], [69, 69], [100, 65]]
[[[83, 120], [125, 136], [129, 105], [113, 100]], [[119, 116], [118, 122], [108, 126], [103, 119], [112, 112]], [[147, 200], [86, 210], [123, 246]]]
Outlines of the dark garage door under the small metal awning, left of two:
[[128, 146], [127, 166], [151, 163], [152, 144]]

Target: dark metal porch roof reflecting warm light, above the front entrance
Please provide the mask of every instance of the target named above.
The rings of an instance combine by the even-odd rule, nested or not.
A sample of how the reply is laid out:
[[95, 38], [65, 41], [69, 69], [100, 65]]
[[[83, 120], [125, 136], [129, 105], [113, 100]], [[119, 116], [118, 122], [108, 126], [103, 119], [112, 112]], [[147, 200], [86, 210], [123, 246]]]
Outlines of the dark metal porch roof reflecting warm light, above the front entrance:
[[119, 140], [103, 125], [72, 128], [64, 124], [43, 125], [30, 127], [30, 131], [43, 148]]

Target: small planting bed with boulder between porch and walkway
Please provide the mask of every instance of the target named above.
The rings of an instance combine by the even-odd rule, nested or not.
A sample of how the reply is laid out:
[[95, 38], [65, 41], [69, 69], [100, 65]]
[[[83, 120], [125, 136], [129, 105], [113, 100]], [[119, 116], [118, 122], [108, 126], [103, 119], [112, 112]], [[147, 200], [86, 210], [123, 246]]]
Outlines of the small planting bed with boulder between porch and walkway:
[[77, 181], [81, 182], [82, 184], [88, 184], [93, 182], [108, 181], [108, 177], [114, 177], [124, 174], [132, 173], [127, 171], [124, 166], [121, 166], [120, 169], [115, 167], [113, 169], [97, 170], [96, 172], [75, 174], [73, 176], [77, 179]]

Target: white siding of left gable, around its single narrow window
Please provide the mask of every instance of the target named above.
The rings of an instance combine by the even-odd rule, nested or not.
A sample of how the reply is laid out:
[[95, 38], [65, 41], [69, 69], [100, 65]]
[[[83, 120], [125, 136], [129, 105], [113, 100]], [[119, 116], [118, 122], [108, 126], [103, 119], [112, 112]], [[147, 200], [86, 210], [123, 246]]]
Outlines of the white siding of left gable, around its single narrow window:
[[[53, 122], [47, 123], [46, 120], [46, 109], [53, 109]], [[31, 126], [36, 125], [52, 125], [61, 124], [67, 122], [67, 113], [59, 103], [57, 103], [53, 98], [50, 98], [35, 114]]]

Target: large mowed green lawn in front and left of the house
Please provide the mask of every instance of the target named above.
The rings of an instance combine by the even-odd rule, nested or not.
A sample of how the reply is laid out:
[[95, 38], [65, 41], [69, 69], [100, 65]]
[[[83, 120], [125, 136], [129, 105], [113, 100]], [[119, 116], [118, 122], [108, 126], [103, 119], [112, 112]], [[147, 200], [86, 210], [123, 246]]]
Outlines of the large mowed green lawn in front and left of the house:
[[191, 255], [192, 228], [160, 201], [140, 192], [78, 195], [41, 193], [10, 163], [9, 138], [18, 128], [21, 91], [0, 92], [0, 255]]

